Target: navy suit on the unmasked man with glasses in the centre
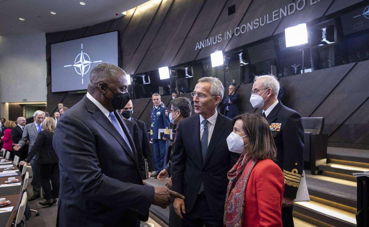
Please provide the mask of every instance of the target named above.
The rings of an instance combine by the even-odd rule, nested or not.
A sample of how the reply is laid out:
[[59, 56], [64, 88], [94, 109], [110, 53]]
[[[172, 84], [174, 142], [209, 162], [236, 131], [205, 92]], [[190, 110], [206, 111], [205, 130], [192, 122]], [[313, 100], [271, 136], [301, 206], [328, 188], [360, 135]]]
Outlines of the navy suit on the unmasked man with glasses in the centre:
[[[199, 197], [201, 182], [209, 210], [207, 214], [211, 220], [218, 220], [223, 224], [225, 192], [228, 186], [228, 171], [237, 162], [240, 154], [230, 152], [227, 137], [232, 132], [232, 121], [218, 113], [214, 125], [205, 163], [201, 154], [200, 144], [200, 116], [195, 114], [183, 119], [177, 128], [172, 156], [173, 190], [184, 195], [184, 205], [187, 216], [191, 210], [199, 210], [195, 206]], [[197, 215], [197, 212], [193, 215]]]

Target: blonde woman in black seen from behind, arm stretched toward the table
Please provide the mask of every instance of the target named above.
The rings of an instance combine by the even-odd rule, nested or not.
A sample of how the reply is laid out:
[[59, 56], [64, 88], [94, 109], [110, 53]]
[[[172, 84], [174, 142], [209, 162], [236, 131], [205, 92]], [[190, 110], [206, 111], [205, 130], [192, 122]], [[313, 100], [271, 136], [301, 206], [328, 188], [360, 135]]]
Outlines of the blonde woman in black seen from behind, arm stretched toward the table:
[[[55, 130], [55, 120], [52, 117], [45, 118], [42, 123], [42, 131], [39, 132], [27, 158], [20, 164], [28, 163], [37, 152], [40, 166], [40, 181], [46, 194], [46, 201], [39, 202], [43, 206], [55, 205], [59, 196], [59, 159], [52, 146], [52, 136]], [[51, 185], [50, 185], [51, 179]]]

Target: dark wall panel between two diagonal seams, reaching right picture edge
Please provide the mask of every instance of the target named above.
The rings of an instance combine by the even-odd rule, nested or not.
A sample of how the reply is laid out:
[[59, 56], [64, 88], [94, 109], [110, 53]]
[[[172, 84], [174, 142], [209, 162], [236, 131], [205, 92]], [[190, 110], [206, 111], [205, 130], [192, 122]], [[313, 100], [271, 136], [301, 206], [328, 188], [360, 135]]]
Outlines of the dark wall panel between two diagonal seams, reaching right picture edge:
[[[356, 63], [314, 116], [325, 118], [324, 133], [331, 135], [369, 97], [369, 61]], [[322, 86], [320, 86], [321, 88]]]

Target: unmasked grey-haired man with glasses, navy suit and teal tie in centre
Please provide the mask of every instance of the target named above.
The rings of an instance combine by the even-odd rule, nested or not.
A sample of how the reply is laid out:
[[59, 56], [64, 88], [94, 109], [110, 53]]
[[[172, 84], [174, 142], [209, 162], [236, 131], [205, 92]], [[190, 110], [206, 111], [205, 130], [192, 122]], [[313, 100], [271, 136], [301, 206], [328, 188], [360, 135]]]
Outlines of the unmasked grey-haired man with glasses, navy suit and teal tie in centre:
[[227, 173], [239, 154], [230, 152], [227, 137], [232, 121], [217, 112], [224, 87], [218, 78], [199, 79], [191, 93], [196, 115], [183, 119], [172, 157], [173, 190], [186, 199], [176, 199], [174, 208], [183, 226], [223, 227]]

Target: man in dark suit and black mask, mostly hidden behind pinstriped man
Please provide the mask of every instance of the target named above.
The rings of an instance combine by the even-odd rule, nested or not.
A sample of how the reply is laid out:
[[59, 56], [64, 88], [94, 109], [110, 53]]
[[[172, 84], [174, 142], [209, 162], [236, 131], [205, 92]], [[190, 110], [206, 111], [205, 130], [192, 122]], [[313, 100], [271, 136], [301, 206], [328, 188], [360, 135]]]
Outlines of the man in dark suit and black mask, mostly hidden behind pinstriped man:
[[125, 105], [124, 109], [121, 112], [121, 115], [124, 119], [130, 120], [137, 124], [138, 126], [138, 137], [139, 143], [141, 144], [142, 148], [142, 155], [147, 161], [149, 175], [151, 176], [151, 171], [155, 171], [155, 164], [154, 164], [154, 157], [152, 156], [152, 151], [150, 147], [150, 140], [149, 135], [147, 134], [146, 124], [143, 121], [137, 120], [132, 117], [133, 114], [133, 103], [130, 100], [127, 105]]

